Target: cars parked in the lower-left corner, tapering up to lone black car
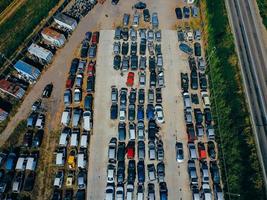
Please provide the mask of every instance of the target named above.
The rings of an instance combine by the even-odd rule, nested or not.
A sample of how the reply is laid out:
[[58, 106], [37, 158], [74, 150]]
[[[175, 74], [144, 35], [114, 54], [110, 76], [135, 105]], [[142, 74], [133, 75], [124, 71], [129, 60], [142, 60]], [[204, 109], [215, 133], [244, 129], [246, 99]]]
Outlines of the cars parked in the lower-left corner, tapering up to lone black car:
[[[42, 92], [42, 98], [49, 98], [53, 84], [49, 83]], [[35, 101], [26, 121], [27, 130], [22, 142], [12, 150], [0, 152], [0, 199], [17, 198], [21, 192], [31, 192], [35, 186], [36, 169], [40, 158], [45, 128], [45, 110], [42, 98]], [[30, 197], [29, 197], [30, 198]]]

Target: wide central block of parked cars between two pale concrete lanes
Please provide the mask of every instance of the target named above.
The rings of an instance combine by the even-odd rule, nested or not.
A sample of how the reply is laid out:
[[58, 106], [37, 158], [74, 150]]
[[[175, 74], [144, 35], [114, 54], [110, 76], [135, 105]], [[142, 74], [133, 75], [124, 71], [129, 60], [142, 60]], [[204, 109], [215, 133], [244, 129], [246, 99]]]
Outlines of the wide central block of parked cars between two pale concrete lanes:
[[[125, 16], [127, 14], [124, 14], [123, 22], [125, 21]], [[127, 24], [124, 23], [124, 26], [127, 26]], [[114, 39], [116, 41], [113, 45], [113, 53], [115, 55], [114, 69], [127, 71], [130, 68], [129, 66], [127, 69], [123, 64], [120, 67], [120, 64], [116, 63], [116, 61], [118, 60], [117, 58], [120, 60], [120, 54], [122, 54], [123, 60], [127, 59], [129, 45], [126, 41], [128, 41], [127, 35], [129, 34], [125, 27], [122, 30], [122, 34], [117, 34], [119, 32], [118, 30], [116, 29], [115, 31]], [[154, 32], [152, 29], [139, 29], [139, 37], [141, 38], [139, 55], [142, 55], [140, 56], [139, 67], [137, 33], [138, 31], [134, 28], [130, 29], [132, 42], [129, 60], [131, 60], [131, 70], [138, 70], [138, 88], [134, 88], [134, 72], [129, 72], [127, 76], [126, 86], [130, 87], [130, 89], [127, 87], [120, 89], [116, 86], [111, 87], [110, 119], [118, 119], [119, 123], [118, 135], [117, 137], [111, 138], [108, 147], [109, 164], [107, 166], [106, 199], [114, 199], [115, 196], [116, 199], [144, 199], [145, 185], [147, 186], [147, 198], [156, 199], [155, 180], [159, 182], [160, 198], [167, 198], [167, 185], [164, 180], [164, 149], [163, 142], [159, 138], [160, 127], [158, 126], [158, 124], [164, 123], [164, 114], [161, 105], [161, 89], [164, 87], [164, 83], [157, 83], [156, 81], [156, 67], [163, 71], [160, 45], [161, 31]], [[119, 40], [123, 40], [122, 46]], [[156, 56], [154, 49], [155, 41], [160, 52], [156, 52]], [[147, 54], [147, 44], [150, 46], [148, 53], [150, 54], [150, 69], [153, 72], [150, 72], [150, 84], [146, 95], [146, 72], [148, 70], [146, 69], [145, 55]], [[159, 61], [159, 66], [156, 65], [156, 58]], [[156, 105], [154, 104], [155, 101]], [[147, 129], [145, 128], [146, 120], [148, 121]], [[145, 136], [146, 131], [148, 132], [147, 137]], [[146, 144], [148, 148], [146, 148]], [[135, 153], [136, 151], [137, 153]], [[146, 156], [146, 151], [148, 156]], [[146, 162], [148, 163], [146, 164]], [[135, 183], [136, 179], [137, 184]], [[134, 197], [135, 192], [136, 197]]]

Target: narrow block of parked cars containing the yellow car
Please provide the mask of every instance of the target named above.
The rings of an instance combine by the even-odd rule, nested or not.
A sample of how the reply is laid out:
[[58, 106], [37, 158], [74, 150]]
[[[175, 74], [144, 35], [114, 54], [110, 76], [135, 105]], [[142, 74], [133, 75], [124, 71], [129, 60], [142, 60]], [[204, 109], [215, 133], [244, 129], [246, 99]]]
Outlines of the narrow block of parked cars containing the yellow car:
[[[95, 57], [99, 32], [87, 32], [81, 44], [80, 58], [74, 58], [64, 92], [63, 129], [56, 149], [52, 199], [86, 198], [88, 148], [93, 125]], [[88, 59], [89, 58], [89, 59]], [[83, 82], [87, 77], [86, 95]], [[74, 89], [73, 89], [74, 87]], [[76, 193], [74, 192], [77, 189]], [[75, 193], [75, 195], [74, 195]]]

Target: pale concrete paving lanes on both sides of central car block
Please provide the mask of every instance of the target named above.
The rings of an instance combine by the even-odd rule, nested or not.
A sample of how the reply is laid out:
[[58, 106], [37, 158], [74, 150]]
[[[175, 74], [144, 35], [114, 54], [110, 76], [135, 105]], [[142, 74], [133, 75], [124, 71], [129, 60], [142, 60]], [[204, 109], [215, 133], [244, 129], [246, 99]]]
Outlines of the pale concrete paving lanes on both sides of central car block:
[[[118, 88], [125, 86], [126, 77], [121, 77], [112, 68], [113, 35], [114, 31], [108, 30], [100, 33], [96, 66], [94, 133], [90, 142], [88, 199], [104, 199], [105, 196], [108, 142], [111, 137], [117, 136], [118, 123], [109, 119], [110, 86], [116, 85]], [[184, 147], [187, 141], [182, 114], [183, 102], [179, 92], [179, 75], [180, 72], [187, 70], [187, 61], [178, 55], [176, 31], [162, 31], [162, 37], [166, 80], [166, 88], [163, 89], [163, 107], [166, 123], [162, 126], [161, 135], [165, 150], [166, 182], [169, 186], [170, 199], [177, 197], [190, 199], [186, 161], [178, 166], [175, 159], [176, 139], [182, 141]], [[187, 158], [186, 148], [185, 158]], [[157, 187], [156, 193], [158, 194]]]

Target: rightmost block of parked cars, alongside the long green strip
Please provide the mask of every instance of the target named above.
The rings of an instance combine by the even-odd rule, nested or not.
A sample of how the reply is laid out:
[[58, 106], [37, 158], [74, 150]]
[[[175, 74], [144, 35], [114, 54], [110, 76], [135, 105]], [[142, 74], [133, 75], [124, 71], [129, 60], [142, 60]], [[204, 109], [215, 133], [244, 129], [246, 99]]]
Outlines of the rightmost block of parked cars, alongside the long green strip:
[[[200, 38], [197, 37], [195, 40], [200, 40]], [[181, 42], [181, 40], [179, 41]], [[186, 42], [193, 42], [193, 36]], [[200, 43], [198, 44], [200, 45]], [[196, 53], [196, 51], [199, 52]], [[205, 74], [205, 61], [201, 57], [201, 49], [196, 50], [195, 48], [195, 56], [190, 55], [188, 57], [188, 65], [190, 76], [188, 73], [181, 73], [180, 77], [183, 90], [184, 119], [188, 135], [189, 160], [187, 164], [192, 198], [194, 200], [213, 199], [213, 188], [214, 199], [221, 200], [223, 193], [217, 163], [217, 145], [208, 94], [208, 81]], [[195, 93], [196, 90], [198, 91]], [[201, 100], [199, 100], [199, 95]], [[180, 142], [176, 143], [176, 159], [178, 162], [184, 160], [183, 144]], [[197, 168], [200, 169], [200, 176]]]

